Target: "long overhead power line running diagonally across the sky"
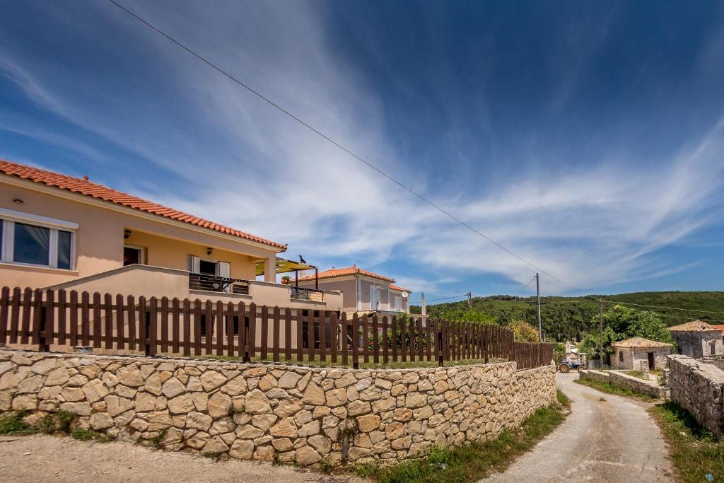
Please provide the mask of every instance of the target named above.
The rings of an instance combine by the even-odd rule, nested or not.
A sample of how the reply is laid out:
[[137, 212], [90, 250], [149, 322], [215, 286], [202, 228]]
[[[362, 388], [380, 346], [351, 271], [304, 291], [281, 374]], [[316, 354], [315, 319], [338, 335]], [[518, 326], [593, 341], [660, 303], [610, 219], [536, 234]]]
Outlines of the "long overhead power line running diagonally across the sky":
[[151, 30], [154, 30], [156, 33], [159, 33], [159, 35], [163, 35], [163, 36], [164, 36], [165, 38], [167, 38], [169, 41], [171, 41], [172, 43], [176, 44], [176, 45], [179, 46], [181, 49], [184, 49], [184, 50], [187, 51], [189, 54], [195, 56], [197, 59], [199, 59], [199, 60], [200, 60], [201, 62], [203, 62], [204, 64], [208, 65], [208, 66], [211, 67], [212, 69], [214, 69], [214, 70], [220, 72], [221, 74], [223, 74], [224, 76], [228, 77], [230, 80], [232, 80], [233, 82], [237, 83], [237, 84], [240, 85], [241, 87], [245, 88], [247, 91], [249, 91], [250, 93], [254, 94], [254, 95], [257, 96], [258, 98], [261, 98], [261, 100], [265, 101], [265, 102], [266, 102], [267, 104], [269, 104], [270, 106], [275, 107], [275, 108], [278, 109], [280, 112], [282, 112], [282, 113], [286, 114], [287, 116], [291, 117], [291, 118], [294, 119], [296, 122], [298, 122], [300, 125], [303, 125], [303, 126], [306, 127], [308, 130], [311, 130], [313, 133], [315, 133], [315, 134], [321, 136], [321, 138], [324, 138], [325, 140], [327, 140], [329, 143], [332, 143], [334, 146], [337, 146], [337, 148], [340, 148], [342, 151], [345, 151], [345, 153], [349, 154], [349, 155], [352, 156], [354, 159], [357, 159], [357, 160], [360, 161], [361, 163], [365, 164], [365, 165], [366, 165], [367, 167], [369, 167], [370, 169], [374, 169], [374, 171], [376, 171], [376, 172], [378, 172], [380, 175], [386, 177], [388, 180], [394, 182], [396, 185], [400, 186], [400, 188], [403, 188], [404, 190], [408, 191], [408, 193], [413, 194], [413, 195], [416, 196], [417, 198], [419, 198], [419, 199], [421, 199], [422, 201], [424, 201], [425, 203], [429, 204], [429, 206], [432, 206], [434, 209], [437, 209], [437, 211], [440, 211], [442, 214], [445, 214], [445, 216], [447, 216], [447, 217], [449, 217], [450, 219], [454, 220], [455, 222], [458, 222], [459, 224], [463, 225], [463, 227], [468, 228], [468, 230], [471, 230], [473, 233], [476, 233], [476, 235], [479, 235], [481, 238], [484, 238], [485, 240], [488, 240], [490, 243], [492, 243], [493, 245], [497, 246], [497, 247], [500, 248], [502, 251], [505, 251], [505, 252], [509, 253], [510, 255], [514, 256], [516, 259], [518, 259], [518, 260], [520, 260], [520, 261], [523, 261], [525, 264], [528, 264], [529, 266], [532, 266], [534, 269], [538, 270], [538, 271], [541, 272], [542, 274], [545, 274], [545, 275], [547, 275], [548, 277], [552, 278], [552, 280], [555, 280], [556, 282], [559, 282], [560, 284], [565, 285], [565, 286], [568, 287], [568, 288], [571, 288], [571, 290], [576, 290], [575, 287], [573, 287], [573, 286], [571, 286], [571, 285], [568, 285], [568, 283], [563, 282], [563, 280], [560, 280], [560, 278], [555, 277], [554, 275], [546, 272], [544, 269], [540, 268], [539, 266], [536, 266], [535, 264], [531, 263], [530, 261], [524, 259], [522, 256], [518, 255], [518, 253], [515, 253], [515, 252], [511, 251], [511, 250], [508, 249], [508, 248], [505, 248], [505, 246], [501, 245], [500, 243], [498, 243], [497, 241], [493, 240], [492, 238], [489, 238], [487, 235], [484, 235], [484, 233], [480, 232], [479, 230], [476, 230], [476, 228], [473, 228], [470, 224], [468, 224], [468, 223], [466, 223], [466, 222], [463, 222], [463, 220], [461, 220], [461, 219], [458, 218], [458, 217], [455, 217], [455, 215], [453, 215], [452, 213], [450, 213], [450, 211], [447, 211], [447, 210], [443, 209], [442, 207], [440, 207], [439, 205], [437, 205], [436, 203], [434, 203], [434, 201], [431, 201], [431, 200], [429, 200], [428, 198], [426, 198], [425, 196], [422, 196], [420, 193], [417, 193], [417, 192], [416, 192], [415, 190], [413, 190], [412, 188], [409, 188], [407, 185], [403, 184], [403, 182], [397, 181], [394, 177], [392, 177], [392, 175], [388, 175], [386, 172], [382, 171], [382, 169], [379, 169], [379, 168], [376, 167], [374, 164], [371, 164], [369, 161], [366, 161], [366, 159], [363, 159], [361, 156], [358, 156], [357, 154], [353, 153], [353, 151], [350, 151], [348, 148], [345, 148], [345, 146], [342, 146], [342, 144], [340, 144], [340, 143], [338, 143], [337, 141], [335, 141], [334, 139], [330, 138], [328, 135], [322, 133], [322, 132], [321, 132], [320, 130], [318, 130], [316, 127], [313, 127], [312, 125], [309, 125], [307, 122], [305, 122], [305, 121], [303, 121], [302, 119], [300, 119], [300, 117], [297, 117], [295, 114], [292, 114], [290, 111], [287, 111], [287, 109], [285, 109], [284, 107], [282, 107], [282, 106], [280, 106], [279, 104], [275, 103], [275, 102], [272, 101], [270, 98], [264, 96], [264, 94], [259, 93], [259, 92], [256, 91], [255, 89], [251, 88], [249, 85], [243, 83], [243, 82], [242, 82], [241, 80], [239, 80], [237, 77], [235, 77], [234, 75], [230, 74], [229, 72], [223, 70], [221, 67], [216, 66], [216, 64], [214, 64], [213, 62], [211, 62], [209, 59], [206, 59], [206, 57], [202, 56], [201, 54], [198, 54], [196, 51], [193, 51], [193, 50], [190, 49], [189, 47], [187, 47], [187, 46], [185, 46], [184, 44], [182, 44], [180, 41], [177, 41], [177, 40], [176, 40], [175, 38], [173, 38], [171, 35], [165, 33], [163, 30], [157, 28], [155, 25], [151, 24], [151, 22], [148, 22], [147, 20], [144, 20], [142, 17], [139, 17], [138, 14], [135, 14], [134, 12], [130, 11], [129, 9], [127, 9], [126, 7], [124, 7], [123, 5], [119, 4], [117, 1], [115, 1], [115, 0], [108, 0], [108, 1], [109, 1], [111, 4], [114, 4], [114, 6], [118, 7], [119, 9], [121, 9], [123, 12], [126, 12], [126, 13], [129, 14], [131, 17], [135, 18], [135, 20], [138, 20], [138, 22], [141, 22], [143, 25], [146, 25], [146, 27], [151, 28]]

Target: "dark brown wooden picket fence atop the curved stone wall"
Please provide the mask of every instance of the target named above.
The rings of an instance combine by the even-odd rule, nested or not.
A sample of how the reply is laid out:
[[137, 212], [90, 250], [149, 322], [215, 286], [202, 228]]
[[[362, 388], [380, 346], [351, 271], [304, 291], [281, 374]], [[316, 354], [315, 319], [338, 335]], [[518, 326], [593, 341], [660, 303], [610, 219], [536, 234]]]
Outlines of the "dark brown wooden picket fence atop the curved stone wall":
[[108, 351], [230, 356], [306, 364], [496, 361], [518, 369], [550, 364], [550, 343], [518, 343], [513, 332], [475, 322], [376, 316], [75, 290], [0, 291], [0, 344], [92, 346]]

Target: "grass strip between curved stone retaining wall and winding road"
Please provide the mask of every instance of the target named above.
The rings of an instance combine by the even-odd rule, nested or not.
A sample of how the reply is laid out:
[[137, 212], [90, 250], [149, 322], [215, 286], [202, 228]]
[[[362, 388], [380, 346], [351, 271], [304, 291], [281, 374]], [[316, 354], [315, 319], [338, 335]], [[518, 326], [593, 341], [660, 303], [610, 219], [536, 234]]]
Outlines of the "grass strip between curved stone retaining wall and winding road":
[[494, 440], [471, 442], [458, 448], [432, 448], [425, 458], [397, 466], [356, 467], [357, 474], [379, 483], [475, 482], [496, 471], [504, 471], [515, 458], [526, 453], [560, 424], [570, 405], [560, 391], [558, 403], [539, 408], [521, 427], [508, 429]]

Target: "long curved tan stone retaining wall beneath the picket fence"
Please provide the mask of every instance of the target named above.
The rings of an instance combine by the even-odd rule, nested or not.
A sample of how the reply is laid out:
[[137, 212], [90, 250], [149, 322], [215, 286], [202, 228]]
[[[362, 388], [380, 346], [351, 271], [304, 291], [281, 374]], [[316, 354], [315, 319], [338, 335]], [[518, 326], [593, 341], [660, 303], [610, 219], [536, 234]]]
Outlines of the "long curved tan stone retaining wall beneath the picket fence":
[[555, 400], [552, 364], [354, 370], [0, 350], [0, 411], [70, 411], [118, 440], [303, 466], [487, 440]]

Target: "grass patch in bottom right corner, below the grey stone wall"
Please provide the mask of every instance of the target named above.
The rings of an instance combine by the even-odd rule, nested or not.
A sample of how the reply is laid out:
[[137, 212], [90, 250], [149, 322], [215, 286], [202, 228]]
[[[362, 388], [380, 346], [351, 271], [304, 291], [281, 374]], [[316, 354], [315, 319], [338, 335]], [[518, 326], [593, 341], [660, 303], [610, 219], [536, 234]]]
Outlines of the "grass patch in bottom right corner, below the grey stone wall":
[[699, 426], [688, 411], [667, 402], [649, 409], [669, 443], [678, 482], [724, 481], [724, 442]]

